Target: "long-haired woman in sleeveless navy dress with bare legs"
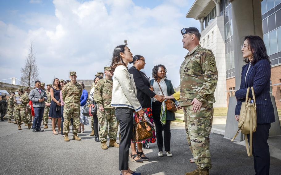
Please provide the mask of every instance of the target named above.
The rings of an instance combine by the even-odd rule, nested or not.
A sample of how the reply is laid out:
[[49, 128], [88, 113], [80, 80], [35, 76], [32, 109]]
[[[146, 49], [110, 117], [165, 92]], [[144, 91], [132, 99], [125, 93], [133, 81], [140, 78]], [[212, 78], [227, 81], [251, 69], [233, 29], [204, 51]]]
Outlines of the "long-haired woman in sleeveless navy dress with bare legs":
[[60, 99], [60, 92], [61, 92], [61, 84], [58, 78], [55, 78], [53, 81], [53, 87], [51, 88], [51, 105], [49, 109], [49, 116], [52, 118], [52, 131], [53, 134], [57, 135], [57, 132], [60, 134], [61, 130], [60, 127], [57, 128], [56, 132], [56, 118], [57, 118], [57, 125], [61, 126], [61, 99]]

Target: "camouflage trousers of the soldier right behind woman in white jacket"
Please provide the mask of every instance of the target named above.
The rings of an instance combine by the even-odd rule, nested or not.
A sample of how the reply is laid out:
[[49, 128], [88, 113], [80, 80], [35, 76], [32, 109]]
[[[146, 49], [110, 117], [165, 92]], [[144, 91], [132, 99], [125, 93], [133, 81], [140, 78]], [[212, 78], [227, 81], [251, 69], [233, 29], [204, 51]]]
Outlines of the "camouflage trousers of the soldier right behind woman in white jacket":
[[[118, 121], [115, 117], [115, 109], [104, 109], [103, 112], [98, 110], [99, 119], [99, 140], [100, 142], [107, 141], [107, 134], [110, 140], [116, 140]], [[108, 129], [107, 129], [108, 127]]]

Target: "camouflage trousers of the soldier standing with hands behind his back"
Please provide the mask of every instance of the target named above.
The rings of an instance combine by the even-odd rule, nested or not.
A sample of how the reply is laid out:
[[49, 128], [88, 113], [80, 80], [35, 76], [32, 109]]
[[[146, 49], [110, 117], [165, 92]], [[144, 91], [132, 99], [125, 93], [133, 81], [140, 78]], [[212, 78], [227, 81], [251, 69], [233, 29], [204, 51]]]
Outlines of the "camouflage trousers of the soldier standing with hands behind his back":
[[69, 123], [70, 118], [73, 118], [73, 134], [78, 133], [78, 127], [80, 125], [80, 108], [78, 109], [69, 109], [69, 108], [63, 108], [63, 133], [69, 133]]

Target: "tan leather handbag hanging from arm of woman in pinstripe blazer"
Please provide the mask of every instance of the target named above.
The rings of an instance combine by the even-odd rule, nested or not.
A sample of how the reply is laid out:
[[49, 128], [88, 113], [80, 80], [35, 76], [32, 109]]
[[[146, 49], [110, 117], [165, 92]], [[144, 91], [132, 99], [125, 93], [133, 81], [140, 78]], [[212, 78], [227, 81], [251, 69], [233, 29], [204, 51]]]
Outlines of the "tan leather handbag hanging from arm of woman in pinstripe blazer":
[[[241, 133], [245, 135], [246, 150], [249, 157], [252, 156], [253, 132], [256, 132], [257, 128], [256, 97], [253, 87], [251, 87], [251, 90], [253, 94], [253, 103], [250, 103], [251, 98], [248, 98], [250, 91], [250, 88], [248, 88], [245, 102], [242, 102], [241, 104], [240, 116], [238, 119], [238, 131], [231, 140], [233, 141], [239, 131], [241, 131]], [[247, 134], [250, 134], [250, 149]]]

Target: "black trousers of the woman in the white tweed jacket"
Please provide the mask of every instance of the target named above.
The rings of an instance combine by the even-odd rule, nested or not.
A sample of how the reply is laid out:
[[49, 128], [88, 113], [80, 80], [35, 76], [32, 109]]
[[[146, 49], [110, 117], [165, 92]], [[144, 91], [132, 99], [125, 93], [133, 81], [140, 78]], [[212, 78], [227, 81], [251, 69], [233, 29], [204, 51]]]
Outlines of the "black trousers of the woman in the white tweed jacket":
[[133, 135], [133, 113], [131, 108], [118, 107], [115, 109], [115, 117], [119, 122], [121, 141], [119, 144], [119, 170], [127, 170], [129, 167], [129, 149]]

